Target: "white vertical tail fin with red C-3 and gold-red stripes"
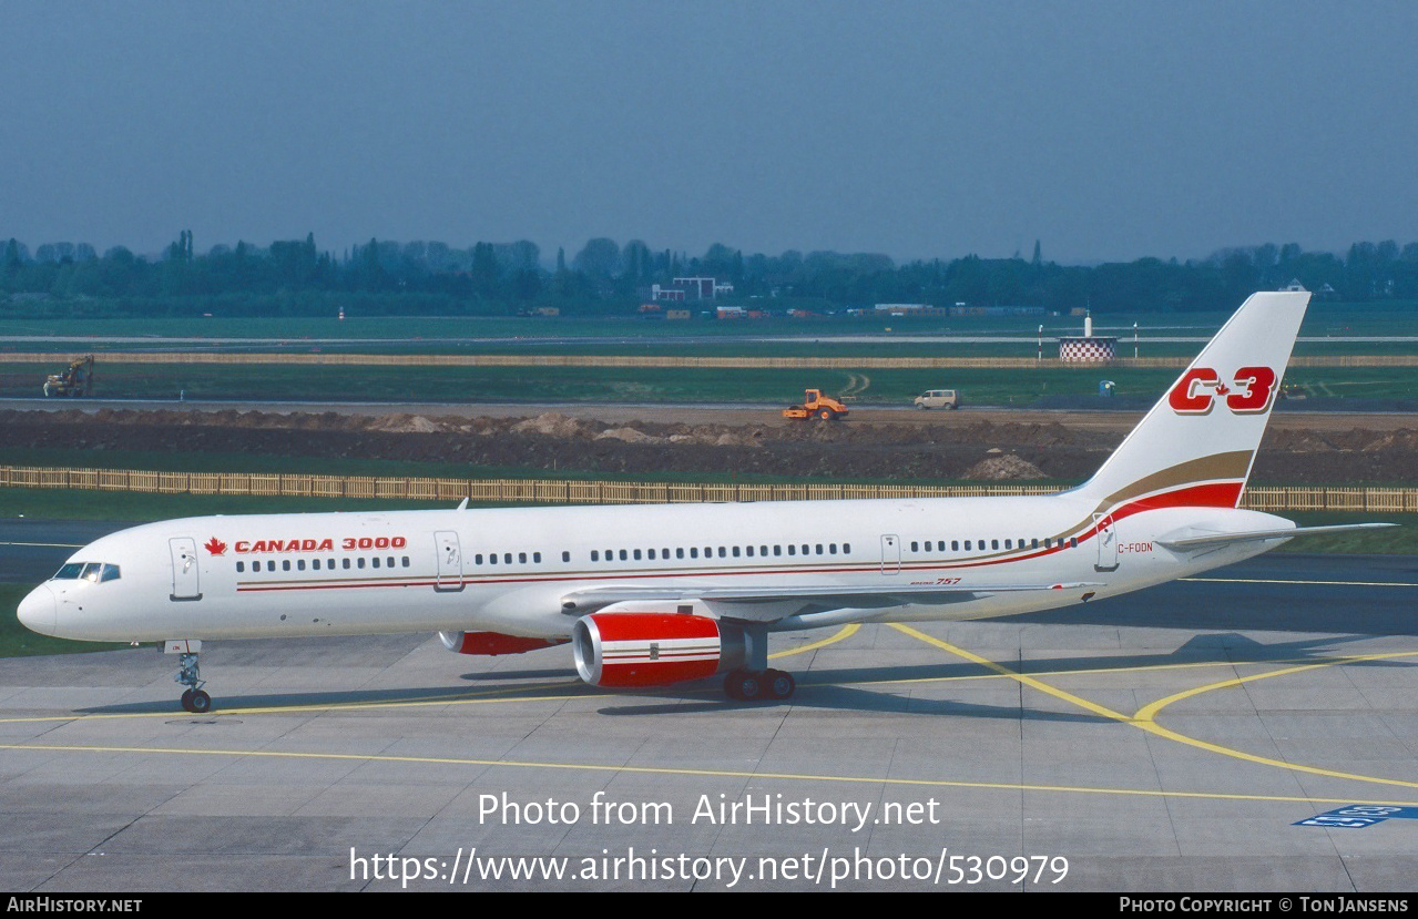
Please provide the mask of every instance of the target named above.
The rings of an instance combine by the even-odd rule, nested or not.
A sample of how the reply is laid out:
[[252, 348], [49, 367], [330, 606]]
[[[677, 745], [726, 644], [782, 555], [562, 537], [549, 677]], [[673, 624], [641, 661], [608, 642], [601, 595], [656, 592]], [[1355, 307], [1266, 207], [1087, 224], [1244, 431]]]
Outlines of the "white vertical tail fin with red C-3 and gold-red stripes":
[[1078, 492], [1099, 511], [1241, 501], [1307, 292], [1252, 294]]

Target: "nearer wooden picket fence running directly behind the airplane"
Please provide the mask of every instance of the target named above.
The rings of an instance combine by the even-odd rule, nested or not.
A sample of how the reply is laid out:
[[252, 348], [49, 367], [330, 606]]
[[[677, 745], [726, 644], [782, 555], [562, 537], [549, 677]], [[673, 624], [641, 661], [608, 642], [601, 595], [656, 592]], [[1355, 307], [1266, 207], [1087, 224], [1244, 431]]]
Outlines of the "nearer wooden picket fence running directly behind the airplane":
[[[166, 495], [363, 498], [455, 503], [702, 503], [1049, 495], [1059, 485], [849, 485], [749, 482], [603, 482], [556, 479], [396, 478], [292, 472], [155, 472], [0, 465], [0, 488], [72, 488]], [[1254, 511], [1418, 513], [1418, 488], [1254, 485]]]

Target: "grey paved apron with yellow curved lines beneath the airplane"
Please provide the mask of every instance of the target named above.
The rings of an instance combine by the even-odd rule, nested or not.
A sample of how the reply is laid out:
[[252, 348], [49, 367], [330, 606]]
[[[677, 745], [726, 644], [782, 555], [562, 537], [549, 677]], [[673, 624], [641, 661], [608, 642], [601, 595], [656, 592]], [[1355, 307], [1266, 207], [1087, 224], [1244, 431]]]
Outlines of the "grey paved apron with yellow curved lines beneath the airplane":
[[783, 635], [790, 705], [431, 635], [214, 642], [207, 716], [152, 648], [6, 659], [0, 885], [1409, 891], [1415, 598], [1415, 557], [1271, 555]]

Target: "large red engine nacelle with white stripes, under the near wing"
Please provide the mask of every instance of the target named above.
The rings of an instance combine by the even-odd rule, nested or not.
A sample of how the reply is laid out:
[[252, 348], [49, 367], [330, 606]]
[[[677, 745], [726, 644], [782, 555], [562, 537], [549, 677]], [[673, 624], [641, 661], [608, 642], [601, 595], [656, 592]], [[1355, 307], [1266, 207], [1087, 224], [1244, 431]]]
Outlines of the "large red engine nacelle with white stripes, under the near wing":
[[668, 686], [743, 667], [743, 630], [682, 613], [593, 613], [571, 627], [576, 671], [593, 686]]

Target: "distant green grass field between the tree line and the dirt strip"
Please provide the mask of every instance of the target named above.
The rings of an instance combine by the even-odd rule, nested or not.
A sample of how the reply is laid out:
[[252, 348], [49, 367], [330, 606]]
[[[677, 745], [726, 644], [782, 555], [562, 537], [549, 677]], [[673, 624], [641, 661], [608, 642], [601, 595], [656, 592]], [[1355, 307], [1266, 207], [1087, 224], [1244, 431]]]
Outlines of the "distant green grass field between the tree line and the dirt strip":
[[[360, 401], [732, 401], [787, 404], [801, 390], [817, 386], [839, 391], [851, 374], [869, 384], [864, 401], [906, 403], [927, 389], [960, 389], [971, 404], [1029, 406], [1051, 399], [1096, 397], [1102, 379], [1117, 383], [1115, 396], [1151, 400], [1176, 376], [1174, 370], [1127, 367], [980, 369], [980, 370], [759, 370], [672, 367], [340, 367], [340, 366], [223, 366], [119, 364], [104, 350], [347, 350], [359, 353], [452, 355], [613, 355], [613, 356], [744, 356], [744, 357], [1034, 357], [1041, 323], [1045, 338], [1076, 335], [1075, 318], [824, 318], [815, 321], [648, 322], [641, 319], [108, 319], [24, 322], [0, 321], [0, 336], [72, 335], [81, 343], [4, 342], [4, 350], [52, 350], [51, 363], [0, 363], [0, 397], [35, 397], [44, 377], [58, 372], [71, 353], [94, 350], [101, 399], [250, 399]], [[1147, 313], [1103, 316], [1099, 335], [1119, 335], [1120, 356], [1132, 356], [1132, 322], [1141, 325], [1139, 353], [1144, 357], [1188, 357], [1210, 338], [1227, 313]], [[932, 343], [905, 340], [932, 335], [1008, 335], [1012, 342]], [[1150, 342], [1149, 335], [1184, 336], [1195, 342]], [[1336, 336], [1418, 336], [1418, 305], [1346, 306], [1316, 303], [1297, 356], [1418, 355], [1418, 342], [1334, 342]], [[140, 336], [150, 345], [105, 340]], [[878, 336], [885, 340], [838, 340]], [[259, 343], [206, 346], [173, 338], [241, 338]], [[318, 339], [326, 339], [316, 343]], [[374, 340], [357, 340], [374, 339]], [[452, 340], [458, 339], [458, 340]], [[479, 339], [479, 340], [467, 340]], [[591, 340], [594, 339], [594, 340]], [[766, 340], [771, 339], [771, 340]], [[902, 340], [892, 340], [902, 339]], [[1056, 353], [1045, 340], [1045, 353]], [[1313, 396], [1336, 399], [1418, 400], [1418, 373], [1395, 369], [1296, 367], [1288, 381]]]

